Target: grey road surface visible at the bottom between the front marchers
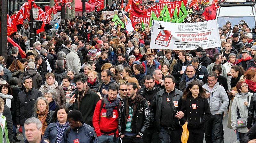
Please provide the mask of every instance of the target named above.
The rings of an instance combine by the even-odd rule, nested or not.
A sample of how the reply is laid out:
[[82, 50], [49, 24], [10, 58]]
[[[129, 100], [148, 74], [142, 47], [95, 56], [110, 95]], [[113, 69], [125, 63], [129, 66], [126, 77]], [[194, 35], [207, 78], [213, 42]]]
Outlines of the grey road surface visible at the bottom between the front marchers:
[[[225, 113], [226, 113], [226, 117], [224, 117], [224, 120], [223, 120], [223, 130], [224, 130], [224, 140], [225, 140], [224, 143], [233, 143], [236, 141], [236, 133], [234, 132], [234, 130], [227, 128], [228, 114], [227, 112]], [[17, 137], [18, 139], [21, 139], [19, 143], [24, 143], [22, 133], [18, 133]]]

